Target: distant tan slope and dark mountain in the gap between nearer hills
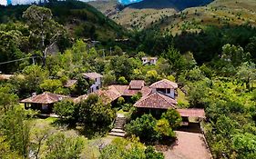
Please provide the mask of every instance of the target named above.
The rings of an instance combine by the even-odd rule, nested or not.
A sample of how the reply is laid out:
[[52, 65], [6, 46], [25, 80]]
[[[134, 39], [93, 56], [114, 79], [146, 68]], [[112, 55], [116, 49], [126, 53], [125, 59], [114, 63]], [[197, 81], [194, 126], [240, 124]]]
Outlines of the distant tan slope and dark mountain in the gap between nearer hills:
[[211, 0], [144, 0], [120, 6], [116, 0], [89, 2], [118, 24], [128, 29], [143, 29], [162, 18], [192, 6], [206, 5]]

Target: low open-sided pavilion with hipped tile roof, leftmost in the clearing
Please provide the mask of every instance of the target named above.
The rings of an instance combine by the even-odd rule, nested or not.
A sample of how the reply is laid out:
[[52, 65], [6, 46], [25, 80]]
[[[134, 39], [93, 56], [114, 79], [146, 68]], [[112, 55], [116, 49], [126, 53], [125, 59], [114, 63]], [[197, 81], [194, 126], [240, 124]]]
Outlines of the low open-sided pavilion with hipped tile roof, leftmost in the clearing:
[[26, 109], [31, 108], [39, 110], [43, 114], [50, 114], [52, 113], [54, 104], [67, 98], [69, 97], [61, 94], [33, 94], [31, 97], [20, 101], [20, 103], [25, 104]]

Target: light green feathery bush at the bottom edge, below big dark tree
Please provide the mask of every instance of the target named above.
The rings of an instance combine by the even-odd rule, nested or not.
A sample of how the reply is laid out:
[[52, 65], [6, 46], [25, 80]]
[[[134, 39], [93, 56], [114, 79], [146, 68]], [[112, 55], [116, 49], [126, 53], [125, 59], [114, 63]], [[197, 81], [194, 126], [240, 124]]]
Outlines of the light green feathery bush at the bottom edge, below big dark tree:
[[46, 140], [46, 159], [78, 159], [84, 147], [84, 141], [76, 135], [58, 132]]

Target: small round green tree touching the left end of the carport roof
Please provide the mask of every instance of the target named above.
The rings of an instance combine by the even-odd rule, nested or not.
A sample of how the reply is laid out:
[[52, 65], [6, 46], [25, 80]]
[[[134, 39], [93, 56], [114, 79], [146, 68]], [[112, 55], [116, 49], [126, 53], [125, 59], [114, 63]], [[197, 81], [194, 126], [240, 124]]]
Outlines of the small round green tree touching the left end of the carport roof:
[[169, 109], [166, 113], [161, 115], [161, 118], [167, 119], [169, 122], [169, 126], [172, 129], [179, 127], [182, 122], [182, 118], [179, 112], [174, 109]]

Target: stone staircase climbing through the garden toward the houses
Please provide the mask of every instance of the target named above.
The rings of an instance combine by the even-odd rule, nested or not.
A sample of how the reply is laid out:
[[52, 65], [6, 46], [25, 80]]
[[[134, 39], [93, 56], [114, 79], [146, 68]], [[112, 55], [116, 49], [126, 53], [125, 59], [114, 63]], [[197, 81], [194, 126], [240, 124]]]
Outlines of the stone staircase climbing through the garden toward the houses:
[[119, 136], [119, 137], [125, 137], [126, 132], [124, 131], [124, 125], [126, 124], [126, 117], [124, 116], [118, 116], [115, 121], [115, 127], [111, 130], [109, 135]]

